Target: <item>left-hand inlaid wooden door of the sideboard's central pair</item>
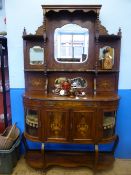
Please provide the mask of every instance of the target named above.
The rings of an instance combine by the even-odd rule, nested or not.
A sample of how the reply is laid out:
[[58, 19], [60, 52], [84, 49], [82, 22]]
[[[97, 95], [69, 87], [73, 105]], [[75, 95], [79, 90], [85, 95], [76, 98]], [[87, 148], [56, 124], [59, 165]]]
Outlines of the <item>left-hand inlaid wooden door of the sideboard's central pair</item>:
[[67, 142], [69, 136], [69, 112], [64, 109], [46, 109], [45, 135], [47, 141]]

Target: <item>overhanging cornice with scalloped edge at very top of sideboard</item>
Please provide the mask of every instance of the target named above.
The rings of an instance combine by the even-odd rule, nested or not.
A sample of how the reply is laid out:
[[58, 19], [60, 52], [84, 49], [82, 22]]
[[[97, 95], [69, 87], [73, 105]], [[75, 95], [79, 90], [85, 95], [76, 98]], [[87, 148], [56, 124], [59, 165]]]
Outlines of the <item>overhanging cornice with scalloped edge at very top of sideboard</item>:
[[74, 12], [74, 11], [83, 11], [83, 12], [90, 12], [93, 11], [96, 14], [99, 14], [101, 9], [101, 5], [42, 5], [44, 10], [44, 14], [48, 13], [49, 11], [60, 12], [62, 10]]

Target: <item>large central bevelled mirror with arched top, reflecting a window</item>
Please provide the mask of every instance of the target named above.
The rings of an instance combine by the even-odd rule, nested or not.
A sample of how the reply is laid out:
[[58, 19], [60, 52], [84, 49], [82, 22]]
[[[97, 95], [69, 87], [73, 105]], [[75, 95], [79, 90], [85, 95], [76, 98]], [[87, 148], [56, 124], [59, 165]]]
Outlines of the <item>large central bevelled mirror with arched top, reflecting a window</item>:
[[88, 59], [89, 30], [66, 24], [54, 32], [54, 57], [59, 63], [83, 63]]

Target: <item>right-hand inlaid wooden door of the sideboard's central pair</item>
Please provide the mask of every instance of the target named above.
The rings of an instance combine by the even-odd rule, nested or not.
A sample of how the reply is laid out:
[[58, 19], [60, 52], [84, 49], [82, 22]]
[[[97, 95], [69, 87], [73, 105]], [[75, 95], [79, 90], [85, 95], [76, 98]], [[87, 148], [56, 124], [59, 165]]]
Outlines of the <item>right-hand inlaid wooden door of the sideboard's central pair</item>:
[[95, 109], [81, 109], [71, 113], [73, 141], [92, 142], [95, 137], [95, 115]]

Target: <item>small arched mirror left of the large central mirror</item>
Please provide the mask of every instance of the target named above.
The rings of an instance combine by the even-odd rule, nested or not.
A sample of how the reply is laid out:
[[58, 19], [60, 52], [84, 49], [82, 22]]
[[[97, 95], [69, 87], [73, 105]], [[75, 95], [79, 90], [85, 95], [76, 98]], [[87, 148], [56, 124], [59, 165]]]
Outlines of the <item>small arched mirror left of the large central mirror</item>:
[[44, 49], [40, 46], [30, 48], [30, 65], [44, 64]]

